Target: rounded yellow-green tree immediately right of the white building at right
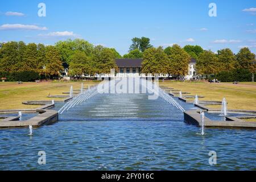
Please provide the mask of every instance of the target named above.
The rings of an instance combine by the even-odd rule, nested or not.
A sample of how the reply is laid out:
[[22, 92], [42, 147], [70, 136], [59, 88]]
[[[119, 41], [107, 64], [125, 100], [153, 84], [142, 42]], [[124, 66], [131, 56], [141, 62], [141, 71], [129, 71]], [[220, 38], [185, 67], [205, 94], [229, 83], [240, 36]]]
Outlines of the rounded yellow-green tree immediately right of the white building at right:
[[218, 57], [212, 51], [204, 51], [197, 59], [196, 71], [200, 75], [210, 76], [220, 71]]

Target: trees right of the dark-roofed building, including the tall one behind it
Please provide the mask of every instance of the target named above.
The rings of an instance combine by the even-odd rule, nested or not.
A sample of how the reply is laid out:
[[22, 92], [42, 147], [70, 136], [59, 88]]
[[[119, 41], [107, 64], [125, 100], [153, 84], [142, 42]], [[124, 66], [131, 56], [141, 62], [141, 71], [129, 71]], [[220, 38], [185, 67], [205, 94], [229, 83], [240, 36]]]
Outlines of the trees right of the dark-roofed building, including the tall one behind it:
[[155, 48], [151, 46], [148, 38], [134, 38], [132, 42], [129, 53], [123, 57], [143, 59], [143, 73], [169, 73], [179, 78], [188, 74], [188, 64], [192, 58], [196, 59], [196, 72], [200, 77], [223, 79], [225, 75], [230, 77], [230, 80], [236, 80], [234, 78], [236, 74], [239, 77], [256, 71], [255, 54], [247, 47], [241, 48], [237, 54], [234, 54], [229, 48], [214, 53], [200, 46], [191, 45], [181, 48], [174, 44], [165, 49]]

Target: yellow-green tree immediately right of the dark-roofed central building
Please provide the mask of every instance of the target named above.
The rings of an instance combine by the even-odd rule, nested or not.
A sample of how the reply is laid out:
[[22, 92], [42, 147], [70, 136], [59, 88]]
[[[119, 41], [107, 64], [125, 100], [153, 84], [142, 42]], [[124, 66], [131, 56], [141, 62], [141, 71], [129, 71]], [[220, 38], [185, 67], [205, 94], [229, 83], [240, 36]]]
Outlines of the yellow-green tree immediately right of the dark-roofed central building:
[[161, 47], [148, 48], [143, 52], [142, 72], [143, 73], [167, 73], [168, 57]]

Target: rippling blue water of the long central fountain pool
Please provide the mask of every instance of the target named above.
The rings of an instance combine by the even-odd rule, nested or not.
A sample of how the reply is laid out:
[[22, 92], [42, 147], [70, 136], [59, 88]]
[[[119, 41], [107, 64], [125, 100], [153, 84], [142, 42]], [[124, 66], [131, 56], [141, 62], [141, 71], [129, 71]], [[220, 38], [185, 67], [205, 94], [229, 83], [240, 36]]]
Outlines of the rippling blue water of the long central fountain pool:
[[[97, 94], [32, 137], [28, 132], [0, 130], [1, 170], [256, 169], [255, 130], [205, 129], [201, 136], [180, 110], [146, 94]], [[39, 151], [46, 152], [46, 165], [38, 164]], [[217, 153], [213, 166], [210, 151]]]

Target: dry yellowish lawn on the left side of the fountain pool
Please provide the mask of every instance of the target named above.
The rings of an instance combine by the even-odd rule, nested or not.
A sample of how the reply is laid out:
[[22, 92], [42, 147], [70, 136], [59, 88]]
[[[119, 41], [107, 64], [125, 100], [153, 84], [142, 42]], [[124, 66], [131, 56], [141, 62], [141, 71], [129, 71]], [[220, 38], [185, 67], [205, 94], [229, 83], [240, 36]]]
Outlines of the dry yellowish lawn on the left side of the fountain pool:
[[[84, 88], [97, 84], [93, 81], [85, 81]], [[63, 92], [69, 92], [70, 86], [73, 89], [81, 89], [81, 82], [0, 82], [0, 109], [27, 109], [38, 106], [23, 105], [23, 101], [39, 100], [64, 100], [64, 98], [48, 98], [48, 95], [66, 95]], [[76, 91], [74, 91], [76, 92]]]

